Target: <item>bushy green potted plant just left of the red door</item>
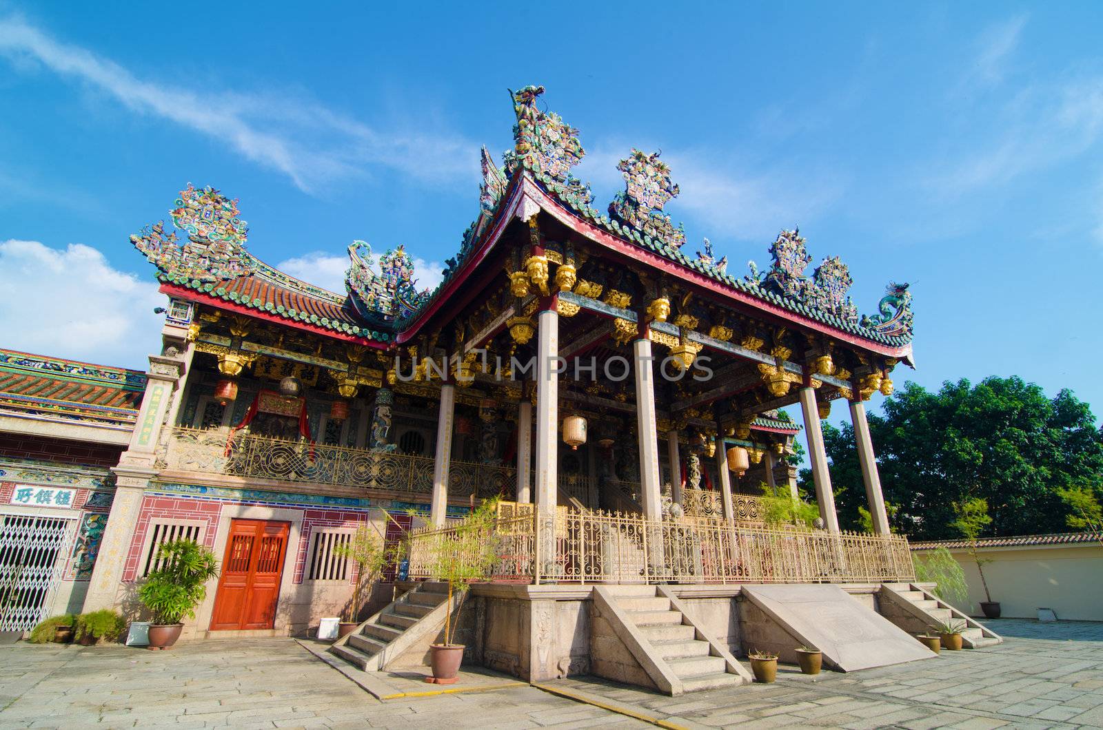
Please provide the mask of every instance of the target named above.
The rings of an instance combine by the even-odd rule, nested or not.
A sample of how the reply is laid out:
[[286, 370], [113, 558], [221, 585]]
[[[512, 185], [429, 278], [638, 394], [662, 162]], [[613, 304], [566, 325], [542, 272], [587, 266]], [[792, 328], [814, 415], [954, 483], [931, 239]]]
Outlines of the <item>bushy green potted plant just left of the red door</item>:
[[207, 581], [218, 577], [218, 559], [195, 540], [179, 539], [161, 544], [157, 565], [138, 589], [138, 598], [153, 614], [149, 647], [163, 650], [180, 638], [182, 619], [195, 618], [195, 606], [206, 598]]

